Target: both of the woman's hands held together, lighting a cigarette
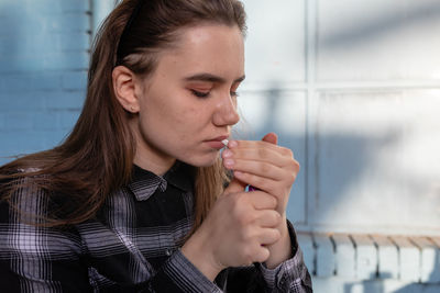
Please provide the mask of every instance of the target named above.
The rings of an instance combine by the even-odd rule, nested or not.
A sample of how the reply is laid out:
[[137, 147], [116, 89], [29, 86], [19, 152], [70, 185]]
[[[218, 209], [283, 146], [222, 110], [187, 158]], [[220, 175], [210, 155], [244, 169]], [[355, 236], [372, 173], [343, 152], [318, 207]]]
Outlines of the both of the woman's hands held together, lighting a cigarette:
[[[183, 247], [211, 280], [224, 268], [267, 261], [272, 247], [289, 246], [286, 206], [299, 164], [290, 149], [276, 143], [271, 133], [261, 142], [231, 140], [222, 153], [234, 178]], [[248, 184], [257, 190], [244, 192]], [[288, 243], [278, 245], [282, 241]]]

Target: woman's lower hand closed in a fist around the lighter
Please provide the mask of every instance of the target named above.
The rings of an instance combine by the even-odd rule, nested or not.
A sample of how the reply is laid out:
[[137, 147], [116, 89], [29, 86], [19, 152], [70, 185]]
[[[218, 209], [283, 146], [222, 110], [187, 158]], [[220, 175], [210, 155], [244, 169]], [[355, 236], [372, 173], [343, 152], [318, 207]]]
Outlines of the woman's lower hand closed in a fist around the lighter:
[[273, 195], [232, 180], [182, 252], [211, 281], [224, 268], [264, 262], [280, 238], [276, 206]]

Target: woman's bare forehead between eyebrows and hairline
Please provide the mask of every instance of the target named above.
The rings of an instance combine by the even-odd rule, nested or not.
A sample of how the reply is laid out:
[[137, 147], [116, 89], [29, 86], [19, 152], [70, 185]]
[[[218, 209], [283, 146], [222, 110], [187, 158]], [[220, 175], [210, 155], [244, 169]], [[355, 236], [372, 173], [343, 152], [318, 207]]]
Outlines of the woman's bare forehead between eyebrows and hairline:
[[[244, 74], [244, 42], [238, 26], [205, 24], [180, 29], [174, 46], [161, 53], [160, 68]], [[170, 74], [170, 72], [168, 72]]]

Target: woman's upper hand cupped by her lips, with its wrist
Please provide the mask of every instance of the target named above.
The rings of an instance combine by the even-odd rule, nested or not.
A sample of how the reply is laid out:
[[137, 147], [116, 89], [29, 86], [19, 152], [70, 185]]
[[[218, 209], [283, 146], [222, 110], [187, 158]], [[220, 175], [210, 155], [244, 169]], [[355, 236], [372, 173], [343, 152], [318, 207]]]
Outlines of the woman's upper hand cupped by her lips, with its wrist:
[[262, 142], [232, 140], [228, 144], [229, 149], [222, 154], [223, 165], [233, 170], [235, 180], [265, 191], [277, 201], [275, 210], [283, 219], [277, 229], [282, 237], [275, 244], [267, 246], [268, 268], [275, 268], [292, 256], [286, 207], [292, 185], [299, 171], [299, 164], [292, 150], [277, 146], [277, 140], [274, 133], [265, 135]]

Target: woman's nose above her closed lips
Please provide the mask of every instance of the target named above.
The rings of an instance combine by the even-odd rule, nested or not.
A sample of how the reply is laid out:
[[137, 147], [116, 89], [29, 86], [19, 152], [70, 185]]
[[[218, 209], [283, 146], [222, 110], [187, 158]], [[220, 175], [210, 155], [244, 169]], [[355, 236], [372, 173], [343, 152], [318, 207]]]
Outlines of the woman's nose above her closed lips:
[[216, 104], [216, 111], [212, 116], [213, 124], [217, 126], [234, 125], [240, 121], [237, 112], [237, 101], [229, 93], [222, 95]]

